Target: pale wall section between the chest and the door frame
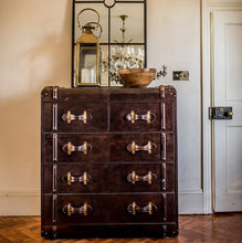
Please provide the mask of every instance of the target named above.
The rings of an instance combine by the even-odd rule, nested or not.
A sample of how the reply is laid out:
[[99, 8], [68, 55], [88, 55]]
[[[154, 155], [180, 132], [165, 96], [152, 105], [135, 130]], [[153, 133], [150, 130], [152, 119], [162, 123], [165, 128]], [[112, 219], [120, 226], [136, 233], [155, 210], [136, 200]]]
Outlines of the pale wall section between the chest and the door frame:
[[[158, 8], [158, 6], [160, 6]], [[178, 92], [179, 212], [203, 212], [201, 163], [200, 1], [148, 1], [148, 65], [168, 66]], [[172, 71], [190, 72], [190, 81], [172, 81]]]

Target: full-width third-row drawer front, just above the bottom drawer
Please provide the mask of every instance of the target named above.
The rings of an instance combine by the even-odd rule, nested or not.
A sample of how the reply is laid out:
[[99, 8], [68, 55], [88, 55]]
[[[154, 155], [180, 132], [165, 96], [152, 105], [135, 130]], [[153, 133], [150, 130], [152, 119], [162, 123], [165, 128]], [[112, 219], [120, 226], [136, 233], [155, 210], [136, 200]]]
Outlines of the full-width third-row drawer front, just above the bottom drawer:
[[44, 166], [45, 193], [159, 192], [173, 190], [173, 163]]

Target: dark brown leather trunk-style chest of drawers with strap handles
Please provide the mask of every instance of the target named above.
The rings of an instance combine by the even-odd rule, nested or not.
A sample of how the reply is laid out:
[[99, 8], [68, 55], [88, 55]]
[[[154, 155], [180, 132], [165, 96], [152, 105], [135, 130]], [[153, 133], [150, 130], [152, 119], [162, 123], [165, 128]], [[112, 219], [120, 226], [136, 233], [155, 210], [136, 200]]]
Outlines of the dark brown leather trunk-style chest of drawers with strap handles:
[[176, 91], [42, 91], [44, 237], [178, 234]]

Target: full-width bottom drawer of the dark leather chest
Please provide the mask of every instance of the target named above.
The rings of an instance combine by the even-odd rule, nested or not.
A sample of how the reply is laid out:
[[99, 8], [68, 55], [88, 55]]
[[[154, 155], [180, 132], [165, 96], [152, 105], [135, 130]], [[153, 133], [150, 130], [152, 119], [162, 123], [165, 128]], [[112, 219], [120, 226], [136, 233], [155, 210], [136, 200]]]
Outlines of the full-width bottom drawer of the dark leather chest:
[[45, 224], [176, 222], [173, 193], [43, 197]]

